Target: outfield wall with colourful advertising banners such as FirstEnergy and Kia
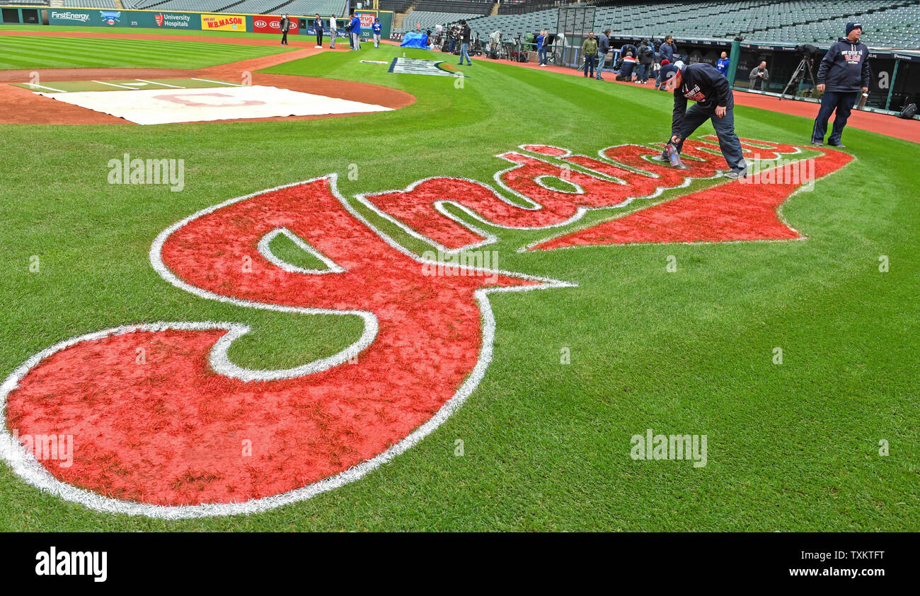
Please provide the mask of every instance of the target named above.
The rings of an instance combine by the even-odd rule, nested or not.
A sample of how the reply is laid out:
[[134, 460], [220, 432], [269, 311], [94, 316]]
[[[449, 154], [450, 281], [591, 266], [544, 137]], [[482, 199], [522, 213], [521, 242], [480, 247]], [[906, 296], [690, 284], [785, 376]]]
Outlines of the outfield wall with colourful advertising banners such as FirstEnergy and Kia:
[[[358, 10], [362, 35], [371, 35], [374, 17], [380, 18], [382, 35], [389, 37], [393, 29], [393, 13], [388, 10]], [[315, 35], [313, 17], [291, 15], [290, 34]], [[326, 17], [328, 18], [328, 16]], [[339, 20], [339, 30], [347, 19]], [[70, 8], [48, 6], [0, 6], [0, 23], [34, 25], [74, 25], [86, 27], [190, 29], [229, 31], [236, 33], [277, 33], [281, 15], [247, 15], [231, 13], [198, 13], [182, 10], [113, 10], [103, 8]], [[340, 33], [344, 37], [344, 33]]]

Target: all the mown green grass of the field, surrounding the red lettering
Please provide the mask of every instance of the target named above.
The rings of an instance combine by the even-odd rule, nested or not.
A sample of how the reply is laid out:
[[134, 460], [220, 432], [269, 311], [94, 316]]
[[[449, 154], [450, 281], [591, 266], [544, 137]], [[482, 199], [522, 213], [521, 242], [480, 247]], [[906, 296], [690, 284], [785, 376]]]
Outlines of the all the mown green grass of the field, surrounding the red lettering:
[[[109, 41], [78, 41], [96, 48], [80, 58], [94, 66], [178, 66], [162, 42], [137, 40], [125, 52], [128, 41], [111, 41], [121, 47], [113, 52]], [[0, 61], [71, 65], [49, 56], [74, 56], [76, 42], [0, 39]], [[8, 44], [15, 62], [7, 62]], [[187, 60], [269, 51], [278, 49], [215, 44]], [[443, 56], [386, 46], [270, 69], [418, 98], [386, 113], [0, 126], [3, 377], [65, 338], [161, 320], [246, 323], [254, 332], [230, 351], [245, 366], [333, 353], [360, 335], [357, 317], [287, 315], [182, 292], [150, 266], [155, 236], [217, 202], [329, 172], [339, 173], [354, 205], [355, 194], [431, 176], [488, 182], [507, 166], [493, 155], [521, 143], [595, 155], [613, 144], [660, 142], [670, 130], [671, 97], [649, 88], [481, 60], [463, 67], [469, 76], [457, 88], [452, 78], [392, 75], [359, 62], [404, 52]], [[811, 121], [738, 107], [736, 130], [805, 144]], [[706, 125], [698, 133], [711, 132]], [[920, 148], [854, 128], [845, 143], [857, 159], [783, 206], [806, 241], [517, 253], [546, 232], [493, 229], [500, 242], [489, 248], [499, 251], [501, 269], [578, 287], [493, 295], [495, 354], [477, 390], [424, 441], [356, 482], [259, 514], [159, 521], [42, 494], [2, 465], [0, 530], [916, 531]], [[185, 159], [185, 189], [109, 185], [107, 163], [124, 153]], [[356, 179], [346, 175], [351, 165]], [[430, 248], [360, 210], [410, 250]], [[594, 212], [569, 227], [610, 216]], [[29, 271], [32, 256], [39, 273]], [[676, 273], [665, 270], [669, 256]], [[772, 361], [775, 347], [784, 351], [781, 365]], [[562, 348], [569, 364], [560, 363]], [[630, 437], [649, 428], [707, 434], [707, 465], [633, 461]], [[887, 457], [880, 440], [890, 443]]]

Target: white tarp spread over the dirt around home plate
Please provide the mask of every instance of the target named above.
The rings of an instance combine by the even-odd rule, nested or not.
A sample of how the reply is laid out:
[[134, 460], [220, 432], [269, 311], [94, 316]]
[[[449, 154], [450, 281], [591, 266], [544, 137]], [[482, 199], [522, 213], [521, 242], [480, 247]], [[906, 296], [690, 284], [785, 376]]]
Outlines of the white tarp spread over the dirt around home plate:
[[40, 95], [75, 106], [95, 109], [138, 124], [316, 116], [391, 109], [360, 101], [260, 85], [139, 91], [76, 91]]

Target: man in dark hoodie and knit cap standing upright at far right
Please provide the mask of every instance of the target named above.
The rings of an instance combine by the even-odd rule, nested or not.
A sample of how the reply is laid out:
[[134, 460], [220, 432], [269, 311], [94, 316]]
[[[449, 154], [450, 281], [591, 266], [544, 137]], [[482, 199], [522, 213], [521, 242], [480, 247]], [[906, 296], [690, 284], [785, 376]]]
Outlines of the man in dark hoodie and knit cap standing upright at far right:
[[827, 120], [836, 110], [834, 129], [827, 139], [827, 144], [843, 147], [841, 138], [844, 134], [846, 119], [850, 117], [860, 91], [868, 93], [868, 48], [860, 43], [862, 25], [846, 24], [846, 37], [834, 41], [834, 45], [824, 54], [818, 68], [818, 90], [821, 97], [821, 109], [811, 129], [811, 144], [824, 143], [827, 132]]

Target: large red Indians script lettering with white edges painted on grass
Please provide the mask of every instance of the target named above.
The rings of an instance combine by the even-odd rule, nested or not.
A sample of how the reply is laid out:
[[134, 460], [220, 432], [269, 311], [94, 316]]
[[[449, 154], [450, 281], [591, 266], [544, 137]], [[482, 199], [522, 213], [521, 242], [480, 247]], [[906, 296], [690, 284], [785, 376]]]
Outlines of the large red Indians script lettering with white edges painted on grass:
[[[778, 143], [744, 147], [765, 160], [800, 153]], [[642, 145], [608, 147], [598, 157], [546, 145], [520, 149], [499, 155], [512, 166], [494, 177], [516, 202], [461, 178], [427, 178], [357, 201], [447, 251], [496, 238], [445, 205], [492, 227], [546, 229], [545, 239], [522, 250], [800, 237], [776, 214], [798, 181], [719, 183], [553, 235], [588, 210], [718, 177], [718, 145], [687, 141], [688, 170], [650, 161], [661, 149]], [[852, 159], [822, 151], [817, 178]], [[570, 189], [547, 185], [554, 177]], [[268, 245], [279, 235], [327, 269], [276, 258]], [[201, 298], [363, 322], [345, 350], [285, 370], [230, 360], [246, 325], [161, 322], [67, 339], [6, 379], [0, 453], [19, 476], [97, 510], [165, 518], [266, 510], [360, 478], [423, 439], [474, 391], [491, 361], [490, 293], [573, 285], [511, 271], [483, 276], [487, 269], [476, 268], [468, 269], [479, 275], [425, 275], [431, 262], [355, 211], [334, 174], [195, 213], [157, 236], [150, 259], [165, 280]], [[14, 430], [73, 436], [70, 465], [39, 461]]]

